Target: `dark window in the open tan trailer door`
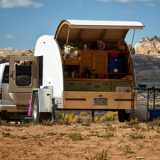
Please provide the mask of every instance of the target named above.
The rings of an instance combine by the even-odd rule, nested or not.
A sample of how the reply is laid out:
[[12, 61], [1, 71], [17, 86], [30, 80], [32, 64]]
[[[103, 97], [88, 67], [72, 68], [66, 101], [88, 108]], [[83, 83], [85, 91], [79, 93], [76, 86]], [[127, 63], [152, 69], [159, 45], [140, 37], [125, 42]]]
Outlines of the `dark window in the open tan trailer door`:
[[32, 82], [32, 62], [18, 61], [16, 62], [16, 85], [30, 86]]

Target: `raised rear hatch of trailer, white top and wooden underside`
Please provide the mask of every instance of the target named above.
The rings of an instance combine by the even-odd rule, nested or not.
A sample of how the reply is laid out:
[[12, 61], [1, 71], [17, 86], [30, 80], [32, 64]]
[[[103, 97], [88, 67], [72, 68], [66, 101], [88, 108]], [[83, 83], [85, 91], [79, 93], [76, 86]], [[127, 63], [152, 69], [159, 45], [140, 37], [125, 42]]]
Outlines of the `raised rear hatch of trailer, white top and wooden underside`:
[[63, 20], [57, 27], [55, 39], [61, 42], [119, 41], [129, 29], [142, 29], [137, 21]]

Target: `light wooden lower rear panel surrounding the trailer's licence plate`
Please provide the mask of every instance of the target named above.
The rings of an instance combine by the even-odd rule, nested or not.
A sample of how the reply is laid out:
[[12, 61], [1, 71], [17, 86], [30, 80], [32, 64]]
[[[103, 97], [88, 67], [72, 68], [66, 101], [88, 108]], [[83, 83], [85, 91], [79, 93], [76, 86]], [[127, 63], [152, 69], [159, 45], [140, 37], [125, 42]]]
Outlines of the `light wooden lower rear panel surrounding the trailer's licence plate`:
[[[107, 99], [106, 105], [94, 104], [94, 98]], [[131, 92], [64, 92], [64, 108], [70, 109], [131, 109]]]

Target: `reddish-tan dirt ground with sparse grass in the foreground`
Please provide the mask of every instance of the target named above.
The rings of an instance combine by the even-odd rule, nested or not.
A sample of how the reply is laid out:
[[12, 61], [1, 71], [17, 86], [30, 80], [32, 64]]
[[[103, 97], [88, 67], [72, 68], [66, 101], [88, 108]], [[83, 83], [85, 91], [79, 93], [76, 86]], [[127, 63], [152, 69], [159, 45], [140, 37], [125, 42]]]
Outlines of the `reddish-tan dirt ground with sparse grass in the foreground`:
[[160, 121], [1, 125], [0, 160], [159, 160]]

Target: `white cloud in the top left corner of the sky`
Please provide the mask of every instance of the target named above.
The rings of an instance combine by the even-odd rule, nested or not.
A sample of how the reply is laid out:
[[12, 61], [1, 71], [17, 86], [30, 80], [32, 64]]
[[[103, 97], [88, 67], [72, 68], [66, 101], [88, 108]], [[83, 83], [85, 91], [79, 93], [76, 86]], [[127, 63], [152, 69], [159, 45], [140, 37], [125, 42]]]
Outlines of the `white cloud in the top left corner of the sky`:
[[43, 4], [37, 0], [0, 0], [0, 8], [39, 8]]

